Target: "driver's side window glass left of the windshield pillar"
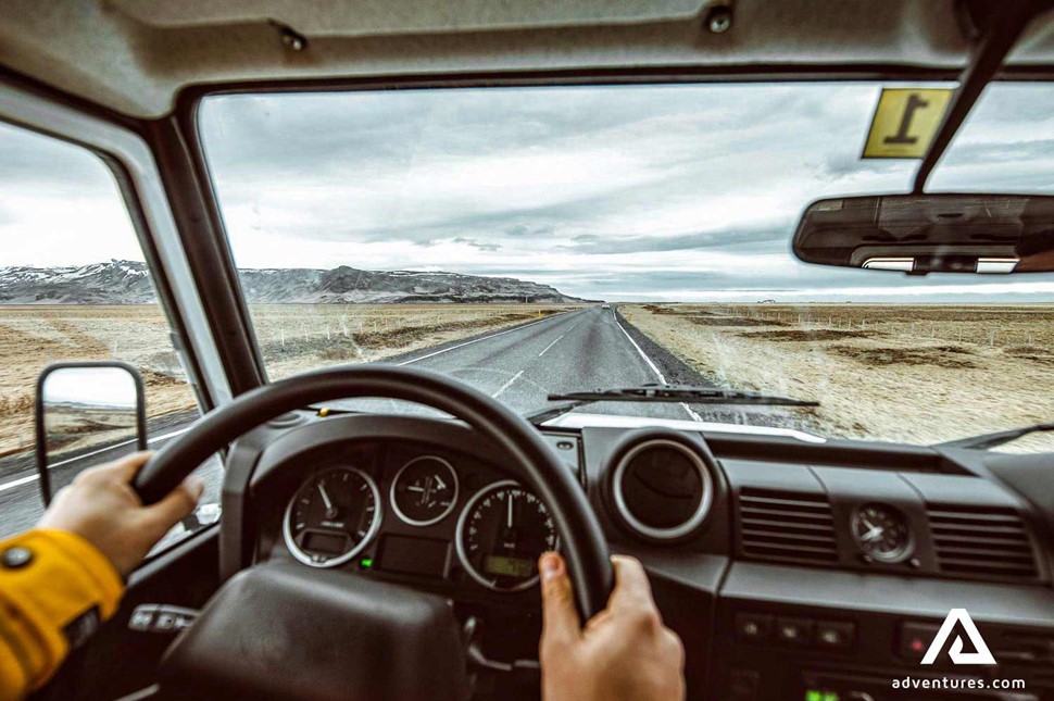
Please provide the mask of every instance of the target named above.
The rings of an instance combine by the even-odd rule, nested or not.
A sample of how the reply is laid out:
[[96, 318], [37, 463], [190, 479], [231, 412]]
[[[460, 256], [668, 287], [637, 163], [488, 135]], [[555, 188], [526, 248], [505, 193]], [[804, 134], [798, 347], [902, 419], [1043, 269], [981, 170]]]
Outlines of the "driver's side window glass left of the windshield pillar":
[[[0, 537], [42, 511], [35, 462], [36, 379], [55, 361], [117, 359], [146, 384], [151, 448], [199, 416], [173, 351], [145, 258], [116, 183], [88, 150], [0, 124]], [[127, 454], [127, 440], [89, 435], [61, 470]], [[215, 504], [218, 467], [202, 467]], [[201, 520], [191, 517], [178, 538]]]

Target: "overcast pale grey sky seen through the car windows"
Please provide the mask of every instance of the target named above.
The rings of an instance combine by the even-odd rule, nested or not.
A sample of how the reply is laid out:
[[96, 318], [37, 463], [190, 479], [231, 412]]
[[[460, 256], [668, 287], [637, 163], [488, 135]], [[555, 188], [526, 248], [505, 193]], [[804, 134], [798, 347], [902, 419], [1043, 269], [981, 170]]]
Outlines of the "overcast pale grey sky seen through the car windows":
[[[862, 161], [876, 85], [213, 98], [201, 126], [241, 267], [507, 275], [590, 298], [1054, 300], [1054, 275], [821, 268], [789, 240], [835, 195], [909, 189]], [[113, 184], [0, 128], [0, 265], [141, 260]], [[60, 166], [61, 164], [61, 166]], [[1054, 88], [989, 88], [931, 190], [1054, 193]]]

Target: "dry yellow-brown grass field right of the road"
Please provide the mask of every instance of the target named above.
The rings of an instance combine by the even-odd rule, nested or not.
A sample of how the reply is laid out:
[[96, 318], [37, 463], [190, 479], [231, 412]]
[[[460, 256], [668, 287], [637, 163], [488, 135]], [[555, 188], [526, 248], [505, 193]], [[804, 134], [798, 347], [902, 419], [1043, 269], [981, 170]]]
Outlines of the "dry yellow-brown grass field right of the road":
[[817, 399], [827, 435], [931, 443], [1054, 417], [1054, 305], [619, 305], [725, 387]]

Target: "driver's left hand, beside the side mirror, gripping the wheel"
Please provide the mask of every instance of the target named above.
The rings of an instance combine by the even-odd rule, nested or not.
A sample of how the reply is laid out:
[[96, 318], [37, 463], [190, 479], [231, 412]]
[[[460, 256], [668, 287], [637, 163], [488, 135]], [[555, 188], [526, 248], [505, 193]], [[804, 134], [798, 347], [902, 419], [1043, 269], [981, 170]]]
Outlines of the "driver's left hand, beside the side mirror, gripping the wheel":
[[188, 477], [155, 504], [143, 506], [131, 480], [152, 453], [129, 455], [84, 471], [59, 490], [38, 528], [74, 533], [127, 577], [154, 543], [198, 505], [204, 483]]

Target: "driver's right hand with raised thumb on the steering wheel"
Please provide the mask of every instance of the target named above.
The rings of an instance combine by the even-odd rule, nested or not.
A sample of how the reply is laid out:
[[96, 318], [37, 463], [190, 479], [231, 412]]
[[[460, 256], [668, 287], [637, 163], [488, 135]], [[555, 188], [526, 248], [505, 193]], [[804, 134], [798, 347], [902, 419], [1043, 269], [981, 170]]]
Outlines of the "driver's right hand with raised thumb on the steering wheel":
[[685, 698], [685, 648], [663, 625], [644, 568], [612, 558], [615, 590], [582, 628], [564, 560], [548, 552], [541, 572], [544, 701], [677, 701]]

